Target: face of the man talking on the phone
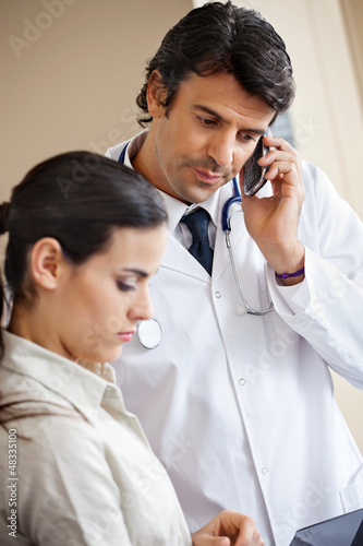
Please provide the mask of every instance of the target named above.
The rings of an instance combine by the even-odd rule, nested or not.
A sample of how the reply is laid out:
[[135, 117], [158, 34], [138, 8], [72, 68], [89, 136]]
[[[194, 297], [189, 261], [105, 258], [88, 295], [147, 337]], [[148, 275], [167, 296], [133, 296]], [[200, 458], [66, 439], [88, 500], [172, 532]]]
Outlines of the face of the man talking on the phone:
[[275, 111], [231, 74], [192, 73], [172, 105], [152, 115], [148, 178], [180, 201], [197, 203], [239, 174]]

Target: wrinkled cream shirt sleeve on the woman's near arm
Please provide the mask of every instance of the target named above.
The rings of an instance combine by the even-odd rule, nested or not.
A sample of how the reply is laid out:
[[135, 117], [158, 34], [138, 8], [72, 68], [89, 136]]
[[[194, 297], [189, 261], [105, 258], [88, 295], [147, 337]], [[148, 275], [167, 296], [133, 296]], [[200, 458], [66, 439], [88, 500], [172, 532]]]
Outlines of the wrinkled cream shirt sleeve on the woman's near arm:
[[[96, 431], [89, 427], [86, 435], [84, 422], [59, 417], [35, 428], [33, 439], [19, 447], [19, 531], [39, 546], [131, 546], [120, 491]], [[64, 441], [72, 447], [68, 456]]]

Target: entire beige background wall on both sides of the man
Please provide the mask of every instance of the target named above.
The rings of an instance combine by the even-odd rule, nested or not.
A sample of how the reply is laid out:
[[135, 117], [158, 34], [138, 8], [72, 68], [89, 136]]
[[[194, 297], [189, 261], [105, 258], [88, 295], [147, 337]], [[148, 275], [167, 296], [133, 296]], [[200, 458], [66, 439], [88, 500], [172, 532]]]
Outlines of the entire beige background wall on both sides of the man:
[[[299, 150], [363, 217], [363, 54], [361, 62], [351, 55], [362, 47], [355, 26], [363, 3], [341, 2], [353, 15], [342, 16], [339, 0], [237, 3], [258, 9], [286, 39], [299, 90], [291, 111]], [[192, 0], [1, 0], [1, 200], [37, 162], [75, 149], [104, 153], [138, 130], [134, 98], [145, 59], [191, 8]], [[340, 379], [336, 385], [363, 451], [363, 393]]]

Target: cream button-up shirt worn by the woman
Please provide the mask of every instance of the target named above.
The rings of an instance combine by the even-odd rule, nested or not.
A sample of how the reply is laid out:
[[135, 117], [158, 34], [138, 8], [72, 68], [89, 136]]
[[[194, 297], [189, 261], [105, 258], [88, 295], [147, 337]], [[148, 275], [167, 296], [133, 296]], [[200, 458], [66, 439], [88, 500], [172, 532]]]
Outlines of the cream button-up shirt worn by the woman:
[[112, 368], [2, 335], [1, 404], [15, 402], [25, 418], [0, 427], [1, 545], [191, 546], [168, 475], [108, 380]]

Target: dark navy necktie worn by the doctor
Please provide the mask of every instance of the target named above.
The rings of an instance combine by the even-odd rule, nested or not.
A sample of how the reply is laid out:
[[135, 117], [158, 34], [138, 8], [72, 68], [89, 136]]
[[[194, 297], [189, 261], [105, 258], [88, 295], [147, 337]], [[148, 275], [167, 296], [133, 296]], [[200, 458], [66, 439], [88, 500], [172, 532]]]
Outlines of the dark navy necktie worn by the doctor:
[[208, 224], [209, 213], [205, 209], [198, 209], [192, 214], [184, 215], [181, 222], [184, 222], [192, 234], [193, 242], [190, 247], [190, 253], [211, 274], [213, 250], [209, 247]]

